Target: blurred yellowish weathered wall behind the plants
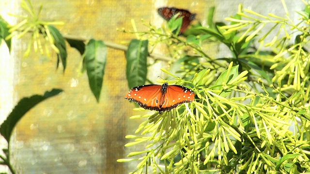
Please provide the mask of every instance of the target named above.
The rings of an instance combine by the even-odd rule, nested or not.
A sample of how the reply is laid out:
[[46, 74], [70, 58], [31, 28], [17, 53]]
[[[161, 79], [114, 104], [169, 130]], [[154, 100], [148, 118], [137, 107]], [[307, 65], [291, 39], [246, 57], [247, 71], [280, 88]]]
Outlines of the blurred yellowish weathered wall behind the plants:
[[[8, 15], [23, 14], [21, 0], [1, 0], [0, 14], [10, 24], [18, 19]], [[117, 31], [132, 30], [134, 19], [138, 30], [146, 28], [141, 18], [156, 27], [164, 20], [157, 8], [173, 6], [197, 14], [206, 25], [208, 9], [216, 6], [215, 21], [237, 12], [238, 4], [267, 15], [285, 15], [280, 0], [31, 0], [34, 9], [43, 5], [42, 18], [63, 21], [56, 26], [62, 34], [81, 38], [95, 38], [119, 44], [128, 44], [134, 34]], [[290, 11], [304, 8], [301, 0], [286, 0]], [[294, 18], [294, 16], [293, 16]], [[52, 88], [62, 88], [57, 97], [40, 103], [18, 123], [12, 140], [12, 163], [17, 173], [23, 174], [125, 174], [136, 163], [118, 163], [130, 151], [139, 147], [124, 147], [125, 135], [133, 134], [142, 120], [131, 120], [134, 104], [125, 101], [129, 90], [125, 77], [124, 52], [108, 49], [104, 84], [100, 103], [95, 101], [86, 73], [81, 73], [81, 56], [67, 44], [67, 69], [56, 70], [56, 54], [52, 58], [31, 53], [23, 58], [27, 37], [13, 39], [12, 52], [0, 47], [0, 119], [3, 121], [14, 105], [23, 97], [43, 94]], [[207, 48], [214, 56], [229, 57], [220, 45]], [[158, 54], [160, 53], [158, 51]], [[153, 69], [152, 78], [160, 75]], [[151, 73], [150, 73], [151, 74]], [[156, 80], [156, 79], [152, 79]], [[0, 144], [1, 147], [5, 144]], [[140, 147], [144, 148], [144, 147]], [[1, 170], [6, 171], [5, 168]]]

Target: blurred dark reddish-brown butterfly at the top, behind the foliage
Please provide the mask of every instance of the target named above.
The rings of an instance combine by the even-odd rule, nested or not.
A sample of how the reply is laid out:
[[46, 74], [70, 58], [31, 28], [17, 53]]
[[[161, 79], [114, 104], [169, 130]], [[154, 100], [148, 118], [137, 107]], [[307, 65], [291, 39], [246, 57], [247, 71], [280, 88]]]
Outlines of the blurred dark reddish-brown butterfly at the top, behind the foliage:
[[178, 18], [183, 17], [180, 33], [183, 34], [189, 27], [190, 23], [195, 19], [196, 14], [192, 14], [187, 10], [174, 7], [161, 7], [158, 9], [158, 14], [169, 21], [174, 15], [179, 13]]

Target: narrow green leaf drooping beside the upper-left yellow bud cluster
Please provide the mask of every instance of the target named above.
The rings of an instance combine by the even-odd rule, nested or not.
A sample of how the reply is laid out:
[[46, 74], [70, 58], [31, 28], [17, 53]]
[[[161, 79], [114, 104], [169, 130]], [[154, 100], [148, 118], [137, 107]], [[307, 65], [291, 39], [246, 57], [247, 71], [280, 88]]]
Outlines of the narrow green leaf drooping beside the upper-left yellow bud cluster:
[[56, 29], [52, 25], [48, 25], [48, 30], [51, 33], [51, 35], [54, 38], [54, 44], [59, 49], [59, 53], [57, 53], [57, 68], [59, 66], [59, 62], [62, 62], [63, 66], [63, 72], [66, 69], [67, 66], [67, 50], [66, 50], [66, 43], [64, 42], [64, 38], [62, 37], [62, 34], [59, 32], [58, 29]]

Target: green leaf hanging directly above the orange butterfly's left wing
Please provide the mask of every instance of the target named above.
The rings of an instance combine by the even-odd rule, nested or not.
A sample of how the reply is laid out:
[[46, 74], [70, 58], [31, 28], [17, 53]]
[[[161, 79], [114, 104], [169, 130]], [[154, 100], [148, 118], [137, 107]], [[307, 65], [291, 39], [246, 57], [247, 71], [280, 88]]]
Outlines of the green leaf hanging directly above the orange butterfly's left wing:
[[126, 52], [126, 76], [129, 88], [145, 84], [147, 74], [148, 40], [134, 39]]

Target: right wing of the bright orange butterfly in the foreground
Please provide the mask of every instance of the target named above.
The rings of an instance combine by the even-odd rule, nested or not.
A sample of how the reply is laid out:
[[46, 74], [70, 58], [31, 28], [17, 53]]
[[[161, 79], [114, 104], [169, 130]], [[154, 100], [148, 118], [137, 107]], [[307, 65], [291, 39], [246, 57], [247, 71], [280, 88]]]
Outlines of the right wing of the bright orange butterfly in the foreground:
[[160, 110], [168, 111], [182, 103], [194, 101], [195, 93], [187, 87], [170, 85], [167, 87], [167, 91], [163, 97], [164, 100]]

